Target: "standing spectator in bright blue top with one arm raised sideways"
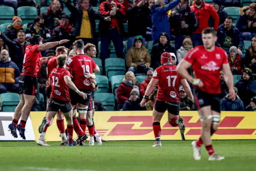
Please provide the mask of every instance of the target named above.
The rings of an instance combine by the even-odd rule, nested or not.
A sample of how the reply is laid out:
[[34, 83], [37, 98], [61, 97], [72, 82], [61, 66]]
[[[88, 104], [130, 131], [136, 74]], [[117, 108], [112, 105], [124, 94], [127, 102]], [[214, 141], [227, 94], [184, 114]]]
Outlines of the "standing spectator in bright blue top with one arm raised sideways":
[[167, 33], [168, 37], [171, 38], [167, 11], [173, 9], [179, 3], [180, 0], [174, 0], [170, 4], [165, 5], [165, 0], [155, 0], [155, 5], [151, 6], [153, 28], [152, 38], [154, 42], [158, 41], [161, 32]]

